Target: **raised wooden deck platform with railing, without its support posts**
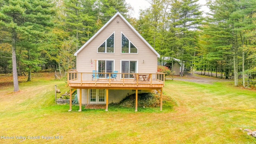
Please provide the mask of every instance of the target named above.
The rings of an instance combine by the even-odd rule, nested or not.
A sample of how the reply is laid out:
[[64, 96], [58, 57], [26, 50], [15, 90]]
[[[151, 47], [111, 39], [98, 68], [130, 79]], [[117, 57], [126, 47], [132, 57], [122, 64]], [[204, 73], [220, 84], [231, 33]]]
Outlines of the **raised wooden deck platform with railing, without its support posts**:
[[68, 72], [68, 86], [89, 89], [158, 89], [164, 87], [164, 74]]

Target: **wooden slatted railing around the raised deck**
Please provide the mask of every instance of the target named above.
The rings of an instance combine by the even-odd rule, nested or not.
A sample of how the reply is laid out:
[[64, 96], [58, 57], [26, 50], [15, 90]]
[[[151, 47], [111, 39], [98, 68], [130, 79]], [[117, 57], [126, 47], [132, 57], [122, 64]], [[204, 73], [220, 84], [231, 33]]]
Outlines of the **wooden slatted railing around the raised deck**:
[[164, 73], [68, 72], [68, 83], [163, 83]]

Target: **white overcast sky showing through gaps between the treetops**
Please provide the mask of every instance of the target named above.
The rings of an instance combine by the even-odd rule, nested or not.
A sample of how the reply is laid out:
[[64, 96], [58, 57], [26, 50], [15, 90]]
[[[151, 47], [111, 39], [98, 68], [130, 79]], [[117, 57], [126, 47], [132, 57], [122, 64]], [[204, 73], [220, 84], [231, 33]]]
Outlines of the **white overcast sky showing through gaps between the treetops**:
[[[140, 9], [144, 10], [150, 6], [150, 4], [146, 0], [126, 0], [126, 2], [130, 3], [130, 5], [134, 8], [134, 13], [132, 15], [132, 17], [134, 18], [139, 18]], [[199, 0], [198, 3], [201, 5], [205, 5], [206, 0]], [[200, 10], [208, 11], [209, 9], [207, 8], [207, 6], [202, 6]]]

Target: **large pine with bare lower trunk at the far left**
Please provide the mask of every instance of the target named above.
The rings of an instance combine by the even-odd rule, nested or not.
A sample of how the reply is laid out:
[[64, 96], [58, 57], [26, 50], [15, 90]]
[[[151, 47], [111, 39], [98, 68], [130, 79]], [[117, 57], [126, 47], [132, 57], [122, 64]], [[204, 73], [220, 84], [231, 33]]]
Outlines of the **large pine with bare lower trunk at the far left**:
[[40, 36], [46, 26], [52, 26], [49, 20], [54, 14], [53, 4], [48, 0], [2, 0], [0, 8], [0, 26], [10, 33], [14, 92], [17, 92], [17, 44], [30, 36]]

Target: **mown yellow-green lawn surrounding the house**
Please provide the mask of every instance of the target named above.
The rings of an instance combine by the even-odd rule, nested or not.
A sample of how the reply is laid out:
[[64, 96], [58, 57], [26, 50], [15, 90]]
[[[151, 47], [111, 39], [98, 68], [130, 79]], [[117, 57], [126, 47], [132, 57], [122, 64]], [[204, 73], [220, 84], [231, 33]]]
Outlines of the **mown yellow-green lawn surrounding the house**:
[[[0, 136], [15, 137], [0, 139], [0, 143], [256, 143], [256, 138], [240, 130], [256, 130], [256, 91], [234, 87], [231, 82], [167, 80], [164, 95], [170, 96], [176, 106], [164, 103], [162, 112], [159, 108], [138, 108], [134, 112], [134, 108], [111, 106], [109, 112], [78, 112], [79, 106], [68, 112], [68, 105], [54, 103], [54, 85], [63, 94], [68, 90], [66, 83], [54, 80], [53, 73], [44, 76], [34, 74], [33, 82], [20, 83], [20, 92], [12, 92], [11, 85], [0, 87]], [[26, 140], [16, 136], [25, 136]]]

